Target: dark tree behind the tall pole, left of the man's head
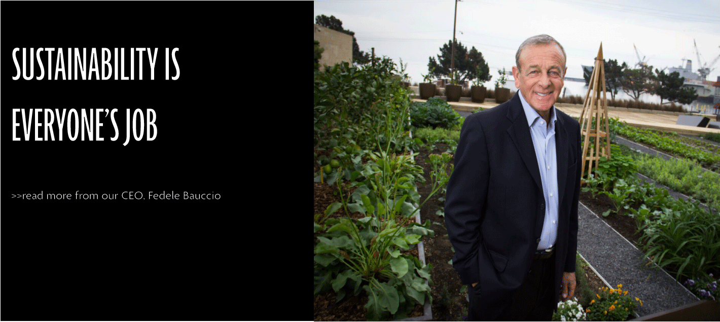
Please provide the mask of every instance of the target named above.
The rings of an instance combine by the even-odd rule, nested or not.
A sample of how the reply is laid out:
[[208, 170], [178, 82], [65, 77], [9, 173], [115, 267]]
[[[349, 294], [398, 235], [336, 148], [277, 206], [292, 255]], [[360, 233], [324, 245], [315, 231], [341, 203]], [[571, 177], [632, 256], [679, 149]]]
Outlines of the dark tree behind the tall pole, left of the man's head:
[[429, 57], [428, 71], [431, 71], [437, 79], [445, 76], [453, 79], [455, 83], [472, 81], [477, 77], [478, 71], [480, 71], [481, 81], [490, 81], [492, 78], [492, 76], [490, 76], [490, 68], [487, 66], [485, 58], [482, 57], [482, 53], [477, 51], [474, 46], [468, 52], [467, 47], [463, 46], [462, 43], [455, 43], [455, 76], [453, 76], [450, 71], [451, 57], [452, 42], [450, 40], [440, 48], [440, 55], [438, 55], [437, 61], [434, 57]]

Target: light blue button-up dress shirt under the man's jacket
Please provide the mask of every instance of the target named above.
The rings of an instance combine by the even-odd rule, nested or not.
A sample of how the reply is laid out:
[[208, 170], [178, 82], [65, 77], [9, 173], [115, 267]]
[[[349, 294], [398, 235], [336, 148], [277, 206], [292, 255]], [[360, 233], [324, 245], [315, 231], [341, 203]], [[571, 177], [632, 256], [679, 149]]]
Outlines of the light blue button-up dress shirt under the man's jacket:
[[525, 115], [528, 118], [528, 127], [530, 127], [530, 135], [533, 139], [533, 146], [535, 146], [535, 156], [538, 161], [545, 196], [545, 221], [542, 225], [538, 250], [549, 249], [555, 244], [557, 238], [557, 209], [559, 204], [557, 199], [557, 153], [555, 153], [557, 115], [555, 115], [555, 107], [551, 107], [550, 125], [548, 126], [540, 114], [528, 104], [523, 94], [520, 91], [518, 91], [518, 94]]

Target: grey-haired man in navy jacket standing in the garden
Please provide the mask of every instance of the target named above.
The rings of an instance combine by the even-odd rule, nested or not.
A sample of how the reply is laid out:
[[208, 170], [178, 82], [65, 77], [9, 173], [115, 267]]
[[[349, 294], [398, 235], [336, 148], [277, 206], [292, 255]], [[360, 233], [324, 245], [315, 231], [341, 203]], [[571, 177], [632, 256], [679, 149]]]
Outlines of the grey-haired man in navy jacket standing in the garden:
[[518, 92], [462, 125], [445, 221], [469, 320], [550, 321], [575, 292], [580, 125], [554, 108], [566, 58], [554, 38], [528, 38]]

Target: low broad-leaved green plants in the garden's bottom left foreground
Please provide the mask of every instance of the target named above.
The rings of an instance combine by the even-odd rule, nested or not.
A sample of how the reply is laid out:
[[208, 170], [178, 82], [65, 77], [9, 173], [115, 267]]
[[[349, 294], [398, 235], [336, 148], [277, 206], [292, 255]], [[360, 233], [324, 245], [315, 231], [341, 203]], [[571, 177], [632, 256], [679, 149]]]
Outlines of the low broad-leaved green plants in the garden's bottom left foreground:
[[[433, 236], [426, 225], [397, 225], [395, 220], [378, 218], [331, 218], [334, 223], [325, 236], [318, 236], [315, 246], [315, 267], [341, 265], [346, 269], [325, 269], [315, 278], [315, 295], [332, 287], [342, 300], [348, 291], [368, 297], [366, 319], [381, 321], [390, 315], [404, 318], [415, 304], [432, 300], [431, 264], [423, 265], [414, 256], [403, 255], [423, 235]], [[332, 236], [333, 238], [328, 238]], [[336, 274], [333, 274], [336, 272]]]

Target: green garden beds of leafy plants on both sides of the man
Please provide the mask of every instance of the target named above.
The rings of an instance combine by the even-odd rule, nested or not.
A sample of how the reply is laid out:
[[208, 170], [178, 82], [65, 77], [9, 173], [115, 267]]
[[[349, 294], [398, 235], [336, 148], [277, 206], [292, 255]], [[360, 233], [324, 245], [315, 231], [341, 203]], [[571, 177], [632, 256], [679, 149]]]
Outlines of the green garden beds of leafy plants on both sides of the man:
[[[467, 315], [443, 213], [464, 118], [443, 99], [411, 102], [403, 78], [402, 64], [388, 58], [315, 71], [315, 321], [418, 317], [426, 301], [434, 321], [463, 321]], [[718, 146], [610, 123], [613, 135], [677, 158], [613, 145], [612, 158], [585, 178], [580, 202], [698, 298], [717, 300]], [[676, 199], [637, 173], [691, 199]], [[642, 299], [627, 286], [606, 287], [580, 256], [577, 261], [577, 302], [562, 303], [559, 313], [567, 316], [557, 321], [632, 317]]]

